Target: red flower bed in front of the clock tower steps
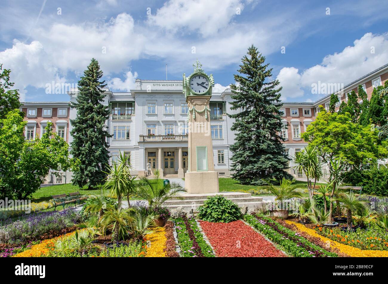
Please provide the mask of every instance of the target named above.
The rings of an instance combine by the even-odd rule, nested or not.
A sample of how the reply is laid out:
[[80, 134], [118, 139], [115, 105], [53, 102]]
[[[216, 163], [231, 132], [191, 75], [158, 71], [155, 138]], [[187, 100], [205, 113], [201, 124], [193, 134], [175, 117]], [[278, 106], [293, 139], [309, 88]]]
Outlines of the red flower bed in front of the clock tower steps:
[[217, 256], [285, 256], [272, 243], [240, 220], [230, 223], [199, 222]]

